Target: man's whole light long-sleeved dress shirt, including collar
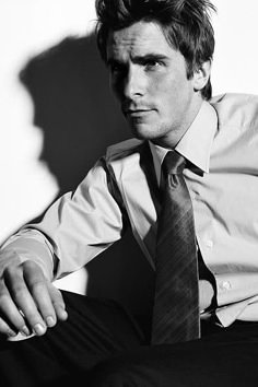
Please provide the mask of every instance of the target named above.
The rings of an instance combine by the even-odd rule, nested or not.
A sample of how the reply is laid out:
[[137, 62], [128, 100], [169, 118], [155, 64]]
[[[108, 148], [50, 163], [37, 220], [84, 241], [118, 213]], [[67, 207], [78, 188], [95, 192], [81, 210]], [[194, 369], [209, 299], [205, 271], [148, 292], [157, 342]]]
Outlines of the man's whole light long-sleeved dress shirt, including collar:
[[[167, 150], [149, 145], [146, 168], [154, 164], [159, 185]], [[136, 139], [108, 148], [74, 192], [4, 243], [0, 266], [14, 253], [37, 261], [49, 279], [60, 278], [118, 241], [128, 218], [154, 269], [160, 204], [140, 163], [142, 148]], [[225, 94], [203, 102], [176, 151], [194, 166], [184, 174], [198, 246], [216, 283], [216, 316], [225, 327], [258, 320], [258, 97]]]

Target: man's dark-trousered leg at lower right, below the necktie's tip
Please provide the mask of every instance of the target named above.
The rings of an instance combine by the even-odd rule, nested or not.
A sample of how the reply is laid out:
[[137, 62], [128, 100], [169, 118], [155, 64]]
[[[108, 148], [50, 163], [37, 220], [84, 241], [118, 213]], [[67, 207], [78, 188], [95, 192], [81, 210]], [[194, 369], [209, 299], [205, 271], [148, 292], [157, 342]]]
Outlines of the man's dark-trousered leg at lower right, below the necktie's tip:
[[258, 324], [241, 324], [186, 343], [143, 347], [92, 372], [91, 387], [255, 387]]

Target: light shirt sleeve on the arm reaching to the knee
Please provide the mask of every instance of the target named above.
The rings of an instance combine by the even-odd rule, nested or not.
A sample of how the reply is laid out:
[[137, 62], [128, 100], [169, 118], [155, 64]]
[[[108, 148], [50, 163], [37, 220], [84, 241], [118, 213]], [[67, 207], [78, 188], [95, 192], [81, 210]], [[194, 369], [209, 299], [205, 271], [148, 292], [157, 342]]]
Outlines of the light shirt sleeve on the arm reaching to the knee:
[[39, 223], [27, 224], [3, 245], [0, 259], [32, 259], [51, 280], [73, 272], [121, 237], [125, 211], [105, 159], [74, 192], [60, 197]]

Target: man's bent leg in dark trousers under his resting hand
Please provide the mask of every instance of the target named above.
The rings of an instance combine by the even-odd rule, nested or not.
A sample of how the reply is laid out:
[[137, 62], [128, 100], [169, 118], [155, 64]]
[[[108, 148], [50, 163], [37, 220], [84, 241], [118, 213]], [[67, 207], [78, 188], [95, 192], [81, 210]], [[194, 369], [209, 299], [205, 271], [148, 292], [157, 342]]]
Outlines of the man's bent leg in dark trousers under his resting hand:
[[118, 351], [144, 340], [129, 314], [117, 303], [62, 292], [68, 320], [43, 337], [0, 342], [0, 380], [4, 387], [54, 386], [86, 373]]

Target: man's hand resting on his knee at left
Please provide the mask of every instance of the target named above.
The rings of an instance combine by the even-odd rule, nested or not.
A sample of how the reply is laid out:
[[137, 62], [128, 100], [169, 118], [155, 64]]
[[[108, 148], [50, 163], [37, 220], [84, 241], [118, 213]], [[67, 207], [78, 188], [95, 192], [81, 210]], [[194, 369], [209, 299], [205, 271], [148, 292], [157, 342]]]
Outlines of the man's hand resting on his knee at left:
[[[42, 336], [57, 320], [66, 320], [61, 292], [32, 261], [13, 257], [0, 267], [0, 333], [14, 337], [17, 332]], [[2, 269], [2, 270], [1, 270]]]

